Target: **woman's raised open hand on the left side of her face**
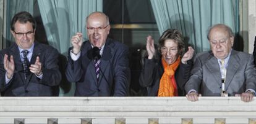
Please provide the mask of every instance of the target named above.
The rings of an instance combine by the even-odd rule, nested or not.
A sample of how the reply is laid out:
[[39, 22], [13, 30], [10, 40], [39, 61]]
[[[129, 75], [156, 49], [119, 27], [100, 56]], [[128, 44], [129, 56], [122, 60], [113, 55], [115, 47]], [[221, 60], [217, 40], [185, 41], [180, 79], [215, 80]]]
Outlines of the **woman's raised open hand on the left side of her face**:
[[152, 36], [147, 37], [147, 52], [148, 52], [148, 59], [152, 59], [153, 56], [155, 55], [155, 45], [154, 45], [154, 40], [152, 39]]

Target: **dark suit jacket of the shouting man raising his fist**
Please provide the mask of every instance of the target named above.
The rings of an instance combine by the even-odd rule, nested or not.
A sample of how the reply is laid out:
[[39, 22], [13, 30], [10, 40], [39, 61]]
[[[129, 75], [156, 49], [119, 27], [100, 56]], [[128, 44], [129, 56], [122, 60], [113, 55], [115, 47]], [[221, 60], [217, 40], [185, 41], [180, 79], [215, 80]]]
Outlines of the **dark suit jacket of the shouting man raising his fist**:
[[81, 47], [81, 55], [73, 61], [70, 48], [66, 76], [69, 82], [75, 82], [75, 96], [126, 96], [129, 90], [130, 69], [126, 45], [107, 39], [101, 57], [100, 77], [97, 82], [95, 62], [88, 58], [92, 49], [90, 41]]

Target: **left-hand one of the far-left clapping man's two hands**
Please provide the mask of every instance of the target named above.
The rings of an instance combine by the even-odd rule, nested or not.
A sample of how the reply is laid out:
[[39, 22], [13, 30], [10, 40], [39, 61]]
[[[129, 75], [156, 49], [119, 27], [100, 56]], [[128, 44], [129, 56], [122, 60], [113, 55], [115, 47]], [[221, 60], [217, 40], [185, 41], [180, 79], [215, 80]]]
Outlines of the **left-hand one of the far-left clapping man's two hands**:
[[4, 54], [4, 69], [6, 69], [7, 78], [11, 79], [14, 75], [14, 56], [11, 55], [10, 61], [8, 60], [8, 55]]

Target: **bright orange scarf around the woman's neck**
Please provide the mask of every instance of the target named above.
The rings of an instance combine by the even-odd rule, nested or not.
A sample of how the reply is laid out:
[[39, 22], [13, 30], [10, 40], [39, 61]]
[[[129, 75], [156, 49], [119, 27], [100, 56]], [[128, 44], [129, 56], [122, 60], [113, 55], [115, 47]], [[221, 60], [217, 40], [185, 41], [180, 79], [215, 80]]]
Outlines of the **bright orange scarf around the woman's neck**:
[[158, 96], [178, 96], [177, 83], [174, 74], [180, 62], [181, 58], [179, 56], [173, 64], [168, 65], [162, 57], [164, 73], [160, 80]]

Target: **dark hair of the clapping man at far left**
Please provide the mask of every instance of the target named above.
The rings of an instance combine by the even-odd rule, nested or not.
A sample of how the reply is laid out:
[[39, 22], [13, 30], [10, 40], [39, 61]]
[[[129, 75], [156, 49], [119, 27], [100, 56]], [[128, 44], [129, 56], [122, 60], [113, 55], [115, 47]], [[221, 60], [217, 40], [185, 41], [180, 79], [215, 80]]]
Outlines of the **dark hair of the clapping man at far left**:
[[15, 14], [14, 17], [12, 18], [11, 21], [11, 30], [14, 31], [14, 25], [15, 23], [19, 21], [20, 23], [27, 23], [27, 21], [29, 21], [30, 23], [32, 23], [33, 26], [33, 30], [35, 30], [36, 28], [36, 21], [35, 19], [32, 17], [32, 15], [28, 12], [19, 12], [18, 14]]

